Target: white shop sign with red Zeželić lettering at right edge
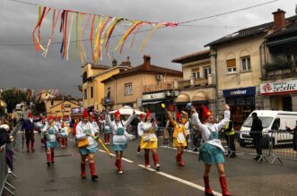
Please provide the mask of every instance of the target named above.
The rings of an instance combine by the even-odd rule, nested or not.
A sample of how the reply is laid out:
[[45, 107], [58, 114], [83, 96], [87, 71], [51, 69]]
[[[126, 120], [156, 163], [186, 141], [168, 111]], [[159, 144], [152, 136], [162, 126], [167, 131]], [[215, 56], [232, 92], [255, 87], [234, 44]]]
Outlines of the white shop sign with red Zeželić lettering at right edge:
[[266, 82], [260, 84], [261, 95], [296, 93], [297, 81]]

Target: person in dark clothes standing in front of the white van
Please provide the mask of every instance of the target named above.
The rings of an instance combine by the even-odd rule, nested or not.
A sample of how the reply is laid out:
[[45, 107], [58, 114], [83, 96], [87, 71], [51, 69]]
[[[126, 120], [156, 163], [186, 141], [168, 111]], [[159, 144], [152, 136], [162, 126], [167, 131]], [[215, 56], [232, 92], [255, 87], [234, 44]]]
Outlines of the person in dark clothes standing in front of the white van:
[[257, 150], [257, 157], [254, 158], [257, 161], [261, 161], [262, 158], [262, 121], [258, 118], [258, 115], [256, 112], [251, 114], [251, 117], [253, 118], [253, 123], [251, 124], [250, 128], [250, 136], [253, 138], [255, 148]]

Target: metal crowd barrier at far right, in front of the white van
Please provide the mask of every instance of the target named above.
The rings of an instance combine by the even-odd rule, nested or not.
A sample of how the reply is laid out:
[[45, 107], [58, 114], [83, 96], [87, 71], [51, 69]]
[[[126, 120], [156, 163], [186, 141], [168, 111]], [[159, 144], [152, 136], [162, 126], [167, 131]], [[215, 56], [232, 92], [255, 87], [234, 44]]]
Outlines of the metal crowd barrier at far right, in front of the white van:
[[274, 157], [271, 163], [276, 159], [281, 163], [283, 163], [281, 159], [297, 161], [297, 132], [284, 130], [271, 133], [271, 154]]

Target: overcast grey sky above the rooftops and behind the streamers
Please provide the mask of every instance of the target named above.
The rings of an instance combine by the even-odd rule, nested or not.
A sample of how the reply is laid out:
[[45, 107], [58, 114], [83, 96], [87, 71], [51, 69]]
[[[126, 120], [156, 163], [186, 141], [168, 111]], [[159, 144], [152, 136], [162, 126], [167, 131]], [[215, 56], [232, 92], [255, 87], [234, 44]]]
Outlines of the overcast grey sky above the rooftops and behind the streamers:
[[[189, 21], [219, 13], [261, 4], [269, 0], [21, 0], [34, 4], [48, 5], [84, 13], [121, 16], [141, 21]], [[211, 19], [188, 23], [191, 26], [156, 30], [142, 52], [139, 47], [147, 33], [137, 34], [134, 47], [129, 50], [130, 39], [124, 52], [113, 56], [118, 63], [130, 56], [133, 65], [143, 63], [144, 55], [151, 55], [152, 64], [180, 70], [180, 64], [170, 63], [172, 59], [204, 50], [205, 44], [222, 38], [237, 30], [273, 21], [277, 8], [286, 12], [286, 17], [295, 14], [297, 0], [279, 0], [272, 4], [231, 13]], [[79, 96], [75, 87], [82, 82], [81, 64], [74, 62], [74, 51], [70, 49], [67, 62], [59, 55], [60, 45], [51, 45], [47, 57], [37, 53], [33, 46], [4, 46], [31, 44], [31, 33], [38, 19], [38, 7], [20, 4], [10, 0], [0, 1], [0, 88], [16, 87], [31, 89], [59, 89], [65, 94]], [[41, 26], [42, 42], [48, 41], [51, 14]], [[58, 21], [59, 22], [59, 21]], [[59, 23], [57, 24], [57, 26]], [[120, 34], [127, 25], [115, 30]], [[88, 35], [88, 33], [86, 34]], [[53, 41], [60, 41], [56, 29]], [[118, 38], [110, 39], [109, 51], [115, 47]], [[90, 42], [84, 42], [89, 48]], [[71, 45], [70, 48], [74, 48]], [[87, 58], [92, 61], [87, 49]], [[111, 59], [104, 56], [100, 64], [111, 64]]]

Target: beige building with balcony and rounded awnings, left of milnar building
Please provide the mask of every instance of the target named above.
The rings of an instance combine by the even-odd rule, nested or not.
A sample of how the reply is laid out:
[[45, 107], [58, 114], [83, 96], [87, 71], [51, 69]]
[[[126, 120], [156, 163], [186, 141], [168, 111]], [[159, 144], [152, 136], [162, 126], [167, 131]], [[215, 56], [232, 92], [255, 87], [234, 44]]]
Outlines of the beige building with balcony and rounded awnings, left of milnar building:
[[190, 102], [199, 112], [202, 112], [202, 105], [214, 112], [215, 84], [210, 50], [184, 55], [173, 59], [172, 62], [182, 64], [183, 80], [176, 81], [175, 84], [179, 96], [174, 102], [179, 111], [185, 110]]

